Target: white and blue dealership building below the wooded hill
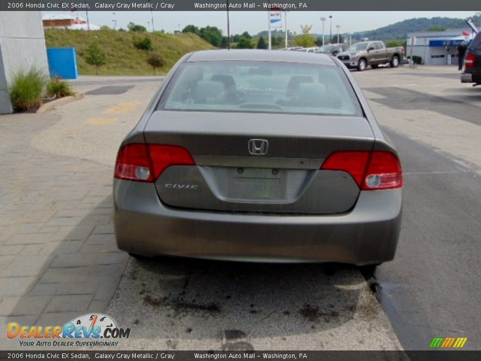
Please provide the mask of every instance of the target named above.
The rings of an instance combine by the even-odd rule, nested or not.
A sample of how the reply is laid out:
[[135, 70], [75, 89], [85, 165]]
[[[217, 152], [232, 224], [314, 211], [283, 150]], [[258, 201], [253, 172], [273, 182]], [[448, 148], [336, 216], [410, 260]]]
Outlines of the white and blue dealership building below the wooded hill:
[[461, 42], [470, 42], [472, 30], [448, 29], [442, 32], [408, 33], [406, 55], [422, 58], [426, 65], [457, 65], [457, 47]]

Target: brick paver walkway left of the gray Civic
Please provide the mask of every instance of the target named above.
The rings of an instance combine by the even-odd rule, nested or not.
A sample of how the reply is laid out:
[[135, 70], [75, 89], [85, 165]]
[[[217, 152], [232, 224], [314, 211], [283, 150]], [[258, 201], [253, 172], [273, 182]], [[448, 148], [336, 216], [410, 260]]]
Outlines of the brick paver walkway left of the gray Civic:
[[0, 116], [4, 336], [8, 322], [57, 325], [104, 311], [128, 260], [113, 235], [112, 168], [30, 146], [57, 120], [52, 114]]

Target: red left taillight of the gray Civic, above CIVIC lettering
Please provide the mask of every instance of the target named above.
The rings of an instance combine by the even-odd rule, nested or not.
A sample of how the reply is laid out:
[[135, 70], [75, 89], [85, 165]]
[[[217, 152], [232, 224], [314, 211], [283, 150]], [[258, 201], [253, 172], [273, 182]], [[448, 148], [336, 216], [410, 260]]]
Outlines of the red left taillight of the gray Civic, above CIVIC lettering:
[[114, 176], [137, 182], [155, 182], [168, 166], [188, 164], [194, 164], [194, 161], [183, 147], [133, 143], [119, 150]]

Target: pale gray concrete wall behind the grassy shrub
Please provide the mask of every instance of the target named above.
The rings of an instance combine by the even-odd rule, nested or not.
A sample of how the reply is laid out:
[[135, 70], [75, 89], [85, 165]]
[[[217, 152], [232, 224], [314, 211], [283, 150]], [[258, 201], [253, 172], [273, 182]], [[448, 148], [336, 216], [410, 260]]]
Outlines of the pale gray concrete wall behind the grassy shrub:
[[7, 84], [32, 66], [49, 74], [42, 13], [0, 12], [0, 114], [12, 112]]

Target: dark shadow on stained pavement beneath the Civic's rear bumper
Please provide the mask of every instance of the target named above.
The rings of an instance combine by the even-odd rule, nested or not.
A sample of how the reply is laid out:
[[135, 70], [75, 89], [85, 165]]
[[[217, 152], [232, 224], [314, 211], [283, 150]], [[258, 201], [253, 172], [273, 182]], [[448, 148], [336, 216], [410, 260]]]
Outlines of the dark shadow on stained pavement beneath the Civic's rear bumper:
[[251, 338], [263, 337], [285, 348], [286, 337], [376, 318], [379, 304], [358, 268], [325, 271], [320, 264], [131, 258], [107, 313], [137, 339], [180, 349], [253, 349]]

